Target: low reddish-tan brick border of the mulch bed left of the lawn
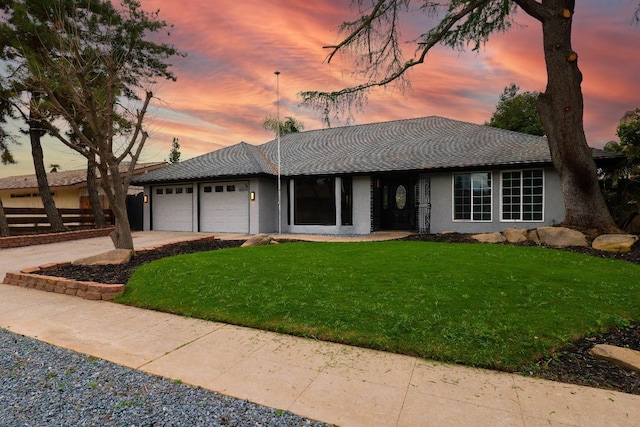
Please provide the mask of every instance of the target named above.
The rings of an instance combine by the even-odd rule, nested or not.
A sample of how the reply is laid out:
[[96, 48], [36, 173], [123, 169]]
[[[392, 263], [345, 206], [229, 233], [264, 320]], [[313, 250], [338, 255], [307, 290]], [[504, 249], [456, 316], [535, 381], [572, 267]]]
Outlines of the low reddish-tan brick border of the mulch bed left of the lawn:
[[[214, 235], [200, 239], [185, 240], [185, 242], [215, 240]], [[142, 248], [136, 252], [142, 253], [159, 249], [163, 246], [181, 242], [170, 242], [164, 245]], [[64, 277], [47, 276], [47, 270], [70, 265], [70, 262], [43, 264], [38, 267], [24, 268], [19, 273], [7, 273], [2, 281], [5, 285], [20, 286], [23, 288], [37, 289], [45, 292], [72, 295], [88, 300], [110, 301], [124, 293], [125, 285], [106, 284], [97, 282], [84, 282], [81, 280], [66, 279]]]

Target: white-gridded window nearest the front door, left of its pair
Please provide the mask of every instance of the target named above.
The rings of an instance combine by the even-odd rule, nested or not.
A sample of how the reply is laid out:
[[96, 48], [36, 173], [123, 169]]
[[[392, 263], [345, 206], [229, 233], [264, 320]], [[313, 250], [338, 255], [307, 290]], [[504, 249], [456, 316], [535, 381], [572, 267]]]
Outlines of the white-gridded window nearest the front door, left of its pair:
[[453, 219], [491, 221], [491, 174], [489, 172], [453, 175]]

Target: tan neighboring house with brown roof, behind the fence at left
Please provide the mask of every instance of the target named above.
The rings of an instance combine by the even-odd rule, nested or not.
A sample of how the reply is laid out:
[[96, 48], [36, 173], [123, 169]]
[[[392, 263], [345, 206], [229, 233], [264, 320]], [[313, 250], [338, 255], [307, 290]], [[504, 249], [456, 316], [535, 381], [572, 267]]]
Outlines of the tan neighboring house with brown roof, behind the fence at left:
[[[166, 166], [165, 162], [144, 163], [136, 165], [134, 176]], [[120, 170], [126, 173], [127, 165]], [[91, 209], [87, 190], [87, 169], [55, 171], [47, 173], [49, 189], [57, 208]], [[142, 188], [130, 187], [131, 193], [141, 192]], [[109, 208], [102, 188], [98, 186], [100, 204]], [[42, 199], [38, 191], [38, 180], [35, 174], [18, 175], [0, 178], [0, 199], [5, 208], [42, 208]]]

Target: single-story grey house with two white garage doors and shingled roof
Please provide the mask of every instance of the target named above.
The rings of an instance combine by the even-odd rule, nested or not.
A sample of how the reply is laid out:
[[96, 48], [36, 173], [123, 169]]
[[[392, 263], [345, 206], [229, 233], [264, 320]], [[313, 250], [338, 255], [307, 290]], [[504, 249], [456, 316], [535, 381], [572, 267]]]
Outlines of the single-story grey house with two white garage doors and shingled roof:
[[435, 116], [241, 142], [134, 182], [144, 185], [145, 230], [475, 233], [565, 214], [546, 138]]

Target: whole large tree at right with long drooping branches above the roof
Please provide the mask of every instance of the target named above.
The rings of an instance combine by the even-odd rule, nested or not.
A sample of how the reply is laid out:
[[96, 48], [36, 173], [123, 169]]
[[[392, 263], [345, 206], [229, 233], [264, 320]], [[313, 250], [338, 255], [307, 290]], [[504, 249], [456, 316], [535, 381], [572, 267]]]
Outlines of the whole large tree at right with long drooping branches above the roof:
[[[301, 93], [303, 104], [319, 111], [352, 114], [362, 109], [367, 93], [376, 87], [408, 87], [406, 72], [426, 61], [437, 45], [453, 49], [479, 49], [492, 34], [511, 28], [522, 10], [542, 26], [547, 87], [538, 97], [538, 110], [549, 141], [551, 159], [560, 176], [565, 223], [602, 232], [619, 231], [600, 191], [596, 166], [583, 126], [582, 73], [571, 45], [575, 0], [356, 0], [361, 16], [341, 27], [342, 41], [331, 50], [328, 62], [339, 52], [355, 53], [356, 70], [363, 83], [335, 92]], [[406, 60], [399, 42], [399, 18], [417, 7], [438, 20], [419, 36], [415, 54]], [[415, 12], [412, 12], [415, 13]], [[636, 10], [636, 20], [640, 8]]]

